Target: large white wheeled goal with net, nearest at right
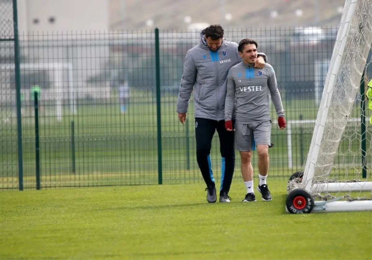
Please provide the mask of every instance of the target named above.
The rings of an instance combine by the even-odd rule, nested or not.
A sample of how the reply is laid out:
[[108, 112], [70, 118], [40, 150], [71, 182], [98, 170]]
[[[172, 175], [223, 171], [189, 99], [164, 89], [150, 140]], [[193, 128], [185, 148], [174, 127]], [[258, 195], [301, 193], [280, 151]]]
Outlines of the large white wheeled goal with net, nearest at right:
[[307, 160], [288, 182], [288, 212], [372, 210], [371, 45], [372, 0], [346, 0]]

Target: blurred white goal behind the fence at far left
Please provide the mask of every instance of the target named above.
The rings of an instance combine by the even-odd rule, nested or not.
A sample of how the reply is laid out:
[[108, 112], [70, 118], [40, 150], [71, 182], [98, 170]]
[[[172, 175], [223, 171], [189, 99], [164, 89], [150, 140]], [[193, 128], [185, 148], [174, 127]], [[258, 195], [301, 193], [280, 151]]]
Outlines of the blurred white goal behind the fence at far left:
[[[68, 100], [71, 113], [76, 114], [76, 93], [74, 93], [73, 66], [70, 63], [22, 63], [20, 64], [21, 85], [27, 80], [27, 76], [35, 72], [45, 72], [48, 75], [48, 84], [50, 88], [42, 89], [42, 101], [55, 102], [55, 116], [58, 121], [62, 121], [63, 100]], [[27, 86], [22, 86], [21, 93], [26, 100], [30, 97], [31, 81]], [[40, 84], [35, 80], [36, 84]], [[12, 87], [13, 85], [13, 87]], [[1, 103], [15, 104], [15, 65], [0, 64], [0, 101]], [[10, 101], [10, 102], [9, 102]], [[15, 105], [14, 105], [15, 106]]]

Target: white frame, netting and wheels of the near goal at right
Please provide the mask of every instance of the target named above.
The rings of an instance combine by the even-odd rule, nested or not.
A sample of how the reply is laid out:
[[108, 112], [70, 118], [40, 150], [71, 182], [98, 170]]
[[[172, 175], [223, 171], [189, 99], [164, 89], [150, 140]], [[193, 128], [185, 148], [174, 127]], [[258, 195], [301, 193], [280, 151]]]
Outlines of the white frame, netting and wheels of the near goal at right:
[[[372, 210], [372, 194], [368, 195], [369, 198], [367, 195], [360, 197], [363, 191], [372, 191], [372, 182], [359, 180], [359, 169], [352, 169], [355, 172], [354, 180], [343, 181], [340, 176], [331, 176], [337, 153], [346, 157], [346, 154], [355, 156], [360, 152], [360, 147], [357, 151], [352, 146], [345, 152], [340, 143], [343, 137], [350, 143], [360, 138], [356, 132], [347, 136], [349, 133], [345, 133], [345, 129], [353, 114], [366, 64], [372, 62], [367, 61], [371, 45], [372, 0], [346, 0], [307, 160], [302, 171], [287, 185], [287, 212]], [[359, 194], [352, 198], [351, 192]]]

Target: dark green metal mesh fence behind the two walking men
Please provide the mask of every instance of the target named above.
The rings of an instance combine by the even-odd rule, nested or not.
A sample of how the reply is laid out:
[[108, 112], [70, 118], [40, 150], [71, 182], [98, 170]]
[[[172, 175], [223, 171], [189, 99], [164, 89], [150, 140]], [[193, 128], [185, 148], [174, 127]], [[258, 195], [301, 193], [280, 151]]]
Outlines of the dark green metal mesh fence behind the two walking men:
[[[307, 156], [337, 31], [322, 29], [319, 35], [301, 35], [293, 28], [225, 33], [235, 42], [256, 39], [276, 71], [288, 127], [272, 127], [273, 178], [287, 178]], [[193, 101], [185, 125], [176, 114], [185, 54], [198, 43], [198, 32], [30, 33], [19, 37], [19, 75], [14, 46], [3, 45], [0, 188], [35, 188], [37, 176], [42, 188], [202, 182]], [[369, 77], [371, 71], [369, 66]], [[122, 81], [130, 89], [125, 99]], [[218, 138], [211, 157], [219, 179]], [[237, 153], [235, 179], [241, 178], [239, 168]]]

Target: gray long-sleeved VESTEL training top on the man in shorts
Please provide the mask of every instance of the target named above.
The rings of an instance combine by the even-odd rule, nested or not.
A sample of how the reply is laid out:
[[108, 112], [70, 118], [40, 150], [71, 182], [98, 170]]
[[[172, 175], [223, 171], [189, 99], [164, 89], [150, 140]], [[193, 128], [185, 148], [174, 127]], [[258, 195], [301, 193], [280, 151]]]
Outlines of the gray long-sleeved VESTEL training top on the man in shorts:
[[269, 91], [278, 117], [284, 117], [275, 71], [270, 64], [266, 63], [262, 69], [244, 62], [232, 66], [227, 75], [225, 120], [231, 120], [234, 100], [236, 123], [270, 120]]

